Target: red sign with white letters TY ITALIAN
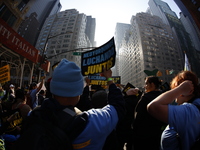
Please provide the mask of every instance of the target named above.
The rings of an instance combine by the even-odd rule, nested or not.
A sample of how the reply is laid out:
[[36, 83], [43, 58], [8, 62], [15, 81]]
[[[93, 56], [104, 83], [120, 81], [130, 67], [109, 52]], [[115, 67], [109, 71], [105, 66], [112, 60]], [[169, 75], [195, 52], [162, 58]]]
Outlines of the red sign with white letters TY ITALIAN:
[[0, 18], [0, 43], [36, 63], [39, 51]]

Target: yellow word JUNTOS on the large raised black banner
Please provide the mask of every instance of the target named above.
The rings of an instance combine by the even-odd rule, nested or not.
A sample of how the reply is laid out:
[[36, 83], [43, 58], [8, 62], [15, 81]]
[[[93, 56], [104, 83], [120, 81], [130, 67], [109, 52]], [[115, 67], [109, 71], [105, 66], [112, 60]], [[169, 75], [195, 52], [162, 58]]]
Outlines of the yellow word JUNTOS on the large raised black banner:
[[102, 63], [102, 64], [88, 66], [88, 70], [84, 74], [89, 75], [89, 74], [100, 73], [100, 72], [103, 72], [102, 68], [110, 69], [112, 67], [112, 64], [113, 64], [112, 60], [113, 60], [113, 57], [110, 58], [108, 61]]

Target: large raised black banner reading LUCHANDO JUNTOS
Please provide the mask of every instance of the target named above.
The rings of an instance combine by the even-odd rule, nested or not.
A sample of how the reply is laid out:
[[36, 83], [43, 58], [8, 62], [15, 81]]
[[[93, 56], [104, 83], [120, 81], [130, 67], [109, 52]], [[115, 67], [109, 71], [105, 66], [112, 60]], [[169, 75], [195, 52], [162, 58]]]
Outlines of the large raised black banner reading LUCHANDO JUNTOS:
[[94, 50], [81, 54], [81, 70], [83, 76], [97, 74], [112, 68], [115, 65], [115, 42], [114, 37], [104, 45]]

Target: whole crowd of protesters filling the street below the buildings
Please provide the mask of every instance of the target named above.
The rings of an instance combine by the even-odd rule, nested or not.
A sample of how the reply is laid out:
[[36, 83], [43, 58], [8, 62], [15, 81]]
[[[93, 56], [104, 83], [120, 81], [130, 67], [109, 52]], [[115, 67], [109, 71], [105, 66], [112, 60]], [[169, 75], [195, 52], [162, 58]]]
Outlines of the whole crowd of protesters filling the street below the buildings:
[[200, 137], [200, 88], [195, 73], [179, 72], [165, 92], [156, 76], [145, 78], [144, 91], [130, 88], [125, 93], [113, 83], [110, 69], [104, 69], [102, 76], [108, 88], [91, 88], [81, 69], [63, 59], [46, 91], [42, 89], [45, 78], [28, 90], [14, 84], [7, 89], [0, 86], [0, 149], [14, 149], [23, 121], [38, 107], [55, 112], [68, 108], [87, 116], [84, 129], [71, 141], [73, 149], [192, 149]]

